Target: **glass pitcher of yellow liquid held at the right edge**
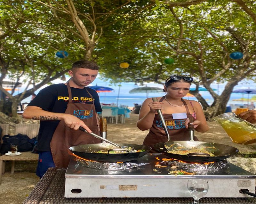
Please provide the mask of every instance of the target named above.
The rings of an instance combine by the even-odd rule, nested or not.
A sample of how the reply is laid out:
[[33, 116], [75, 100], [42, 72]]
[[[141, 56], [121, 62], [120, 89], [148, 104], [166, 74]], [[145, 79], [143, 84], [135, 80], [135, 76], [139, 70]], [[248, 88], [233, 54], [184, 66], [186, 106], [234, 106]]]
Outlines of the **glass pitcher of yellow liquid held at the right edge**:
[[227, 132], [232, 142], [252, 144], [256, 142], [256, 127], [236, 117], [235, 113], [223, 113], [213, 118]]

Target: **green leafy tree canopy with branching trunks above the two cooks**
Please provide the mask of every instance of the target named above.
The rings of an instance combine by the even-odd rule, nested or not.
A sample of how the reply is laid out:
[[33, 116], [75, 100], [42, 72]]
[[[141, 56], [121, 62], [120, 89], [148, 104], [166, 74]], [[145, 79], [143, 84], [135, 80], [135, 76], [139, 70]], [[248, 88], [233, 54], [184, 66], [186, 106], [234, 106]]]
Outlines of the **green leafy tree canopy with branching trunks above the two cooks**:
[[[191, 91], [208, 119], [225, 110], [239, 81], [255, 74], [252, 2], [4, 0], [1, 7], [1, 84], [8, 77], [33, 85], [18, 95], [0, 86], [15, 101], [12, 114], [19, 101], [82, 58], [96, 61], [113, 83], [163, 84], [171, 74], [192, 76], [196, 87], [203, 85], [214, 98], [209, 106], [198, 90]], [[56, 57], [61, 50], [68, 57]], [[235, 51], [243, 58], [231, 59]], [[174, 63], [164, 63], [170, 57]], [[121, 62], [129, 68], [120, 68]], [[211, 89], [216, 81], [228, 81], [220, 96]]]

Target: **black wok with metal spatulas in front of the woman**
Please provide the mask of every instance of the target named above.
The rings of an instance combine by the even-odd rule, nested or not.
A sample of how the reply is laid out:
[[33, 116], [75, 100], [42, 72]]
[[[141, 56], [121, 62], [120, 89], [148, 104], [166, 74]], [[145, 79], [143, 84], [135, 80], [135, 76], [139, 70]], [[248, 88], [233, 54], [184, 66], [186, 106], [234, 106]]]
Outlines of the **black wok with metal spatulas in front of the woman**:
[[[154, 100], [156, 100], [154, 98]], [[163, 113], [161, 110], [157, 110], [157, 113], [160, 117], [160, 120], [162, 124], [165, 123]], [[192, 122], [192, 121], [190, 121]], [[189, 123], [190, 123], [189, 122]], [[166, 126], [163, 126], [166, 128]], [[165, 132], [168, 131], [167, 128], [165, 129]], [[228, 157], [231, 157], [239, 152], [238, 149], [232, 146], [224, 145], [224, 144], [218, 144], [214, 142], [198, 142], [194, 141], [194, 126], [188, 125], [188, 131], [190, 135], [189, 141], [168, 141], [168, 142], [159, 142], [154, 145], [154, 149], [161, 152], [162, 154], [171, 157], [173, 159], [178, 159], [186, 162], [196, 162], [196, 163], [205, 163], [205, 162], [217, 162], [222, 161], [223, 159], [226, 159]], [[168, 150], [165, 148], [165, 145], [168, 144]], [[213, 153], [215, 156], [210, 156], [206, 153], [190, 153], [188, 155], [180, 155], [180, 154], [173, 154], [169, 153], [168, 151], [177, 151], [178, 150], [191, 150], [193, 148], [197, 149], [204, 149], [210, 153]], [[181, 148], [181, 149], [180, 149]], [[199, 156], [198, 156], [199, 155]], [[201, 155], [201, 156], [200, 156]]]

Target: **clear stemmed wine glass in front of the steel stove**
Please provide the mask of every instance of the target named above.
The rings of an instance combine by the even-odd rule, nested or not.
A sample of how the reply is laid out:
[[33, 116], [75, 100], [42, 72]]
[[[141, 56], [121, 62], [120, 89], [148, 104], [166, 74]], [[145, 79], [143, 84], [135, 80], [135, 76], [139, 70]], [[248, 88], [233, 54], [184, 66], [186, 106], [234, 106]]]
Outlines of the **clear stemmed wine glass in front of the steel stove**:
[[208, 181], [202, 179], [189, 179], [187, 183], [188, 193], [194, 198], [193, 203], [199, 203], [199, 199], [203, 198], [208, 192]]

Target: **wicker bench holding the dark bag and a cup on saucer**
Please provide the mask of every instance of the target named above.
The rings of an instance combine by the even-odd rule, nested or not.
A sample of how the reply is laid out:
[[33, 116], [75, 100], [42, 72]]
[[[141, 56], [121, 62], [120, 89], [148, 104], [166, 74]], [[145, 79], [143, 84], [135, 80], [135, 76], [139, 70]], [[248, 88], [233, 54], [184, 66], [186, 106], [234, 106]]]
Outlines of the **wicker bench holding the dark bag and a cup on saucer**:
[[[38, 134], [40, 124], [15, 124], [14, 135], [24, 134], [28, 135], [29, 138], [34, 138]], [[2, 135], [9, 134], [9, 124], [0, 124], [0, 127], [3, 129]], [[2, 139], [1, 135], [1, 139]], [[19, 150], [19, 147], [18, 147]], [[21, 155], [17, 156], [0, 156], [0, 182], [1, 175], [5, 172], [5, 161], [12, 161], [11, 173], [14, 173], [15, 161], [37, 161], [38, 154], [31, 153], [30, 151], [21, 152]]]

